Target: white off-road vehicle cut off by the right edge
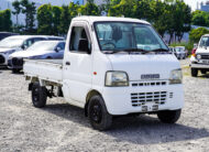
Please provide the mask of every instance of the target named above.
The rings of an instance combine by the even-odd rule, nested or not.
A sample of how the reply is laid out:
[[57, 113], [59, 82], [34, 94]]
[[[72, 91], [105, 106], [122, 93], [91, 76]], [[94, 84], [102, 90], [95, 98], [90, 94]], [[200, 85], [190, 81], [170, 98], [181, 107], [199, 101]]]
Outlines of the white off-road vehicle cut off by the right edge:
[[209, 34], [201, 36], [196, 51], [190, 57], [191, 76], [197, 77], [198, 72], [206, 74], [209, 72]]

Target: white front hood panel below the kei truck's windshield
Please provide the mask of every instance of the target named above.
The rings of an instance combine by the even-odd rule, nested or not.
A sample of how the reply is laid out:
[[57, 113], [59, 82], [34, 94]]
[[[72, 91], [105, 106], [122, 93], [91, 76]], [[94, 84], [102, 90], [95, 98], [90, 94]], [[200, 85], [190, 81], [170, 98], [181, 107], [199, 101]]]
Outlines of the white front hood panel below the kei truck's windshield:
[[[113, 70], [127, 72], [130, 80], [142, 80], [142, 75], [160, 75], [160, 79], [168, 79], [173, 69], [180, 68], [174, 55], [107, 55]], [[143, 79], [144, 80], [144, 79]]]

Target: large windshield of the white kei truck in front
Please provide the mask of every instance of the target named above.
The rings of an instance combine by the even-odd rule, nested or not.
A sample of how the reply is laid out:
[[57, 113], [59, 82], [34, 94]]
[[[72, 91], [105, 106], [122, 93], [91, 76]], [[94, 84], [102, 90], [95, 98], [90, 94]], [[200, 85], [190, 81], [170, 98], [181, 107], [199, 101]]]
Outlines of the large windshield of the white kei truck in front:
[[95, 28], [101, 51], [168, 50], [154, 29], [147, 24], [98, 22]]

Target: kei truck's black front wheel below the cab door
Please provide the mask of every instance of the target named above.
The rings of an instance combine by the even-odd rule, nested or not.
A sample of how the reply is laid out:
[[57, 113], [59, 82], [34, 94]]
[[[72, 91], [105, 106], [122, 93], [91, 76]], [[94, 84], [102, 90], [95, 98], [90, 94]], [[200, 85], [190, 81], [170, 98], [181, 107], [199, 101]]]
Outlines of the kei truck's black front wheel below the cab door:
[[89, 100], [88, 119], [91, 127], [99, 131], [108, 130], [112, 124], [112, 116], [109, 115], [103, 99], [98, 95]]

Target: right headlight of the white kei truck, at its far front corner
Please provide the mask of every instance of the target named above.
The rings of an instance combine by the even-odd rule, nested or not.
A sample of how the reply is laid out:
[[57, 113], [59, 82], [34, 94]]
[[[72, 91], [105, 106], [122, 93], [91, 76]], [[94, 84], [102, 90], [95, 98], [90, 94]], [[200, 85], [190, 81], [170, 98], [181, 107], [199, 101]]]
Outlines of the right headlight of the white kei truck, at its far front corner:
[[169, 84], [182, 84], [183, 83], [183, 73], [182, 69], [174, 69], [170, 72]]

